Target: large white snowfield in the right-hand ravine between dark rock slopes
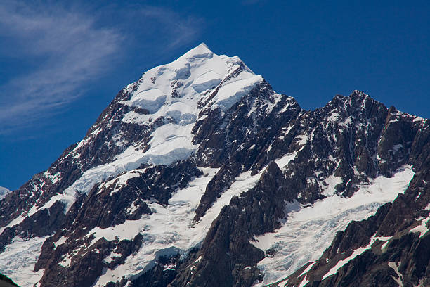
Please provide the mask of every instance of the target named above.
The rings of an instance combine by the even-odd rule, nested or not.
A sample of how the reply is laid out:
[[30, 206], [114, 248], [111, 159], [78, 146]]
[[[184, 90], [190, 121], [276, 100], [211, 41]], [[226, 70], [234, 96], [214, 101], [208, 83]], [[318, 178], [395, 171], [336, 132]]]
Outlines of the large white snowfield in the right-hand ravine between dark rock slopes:
[[313, 205], [303, 206], [297, 201], [287, 204], [288, 216], [282, 227], [251, 241], [261, 250], [275, 250], [274, 257], [265, 257], [257, 265], [265, 275], [263, 282], [254, 286], [284, 279], [307, 262], [318, 260], [337, 231], [344, 230], [352, 220], [374, 215], [379, 206], [408, 188], [413, 175], [411, 167], [405, 165], [393, 177], [379, 176], [361, 185], [351, 198], [332, 195]]

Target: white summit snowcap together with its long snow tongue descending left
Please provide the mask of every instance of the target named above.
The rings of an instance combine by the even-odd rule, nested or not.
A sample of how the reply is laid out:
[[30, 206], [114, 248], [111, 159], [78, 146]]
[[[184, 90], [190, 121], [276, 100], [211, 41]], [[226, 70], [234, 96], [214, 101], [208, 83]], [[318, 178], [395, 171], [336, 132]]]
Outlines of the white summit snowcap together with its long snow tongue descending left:
[[[216, 108], [228, 110], [262, 81], [240, 58], [218, 56], [205, 44], [167, 65], [148, 70], [138, 82], [126, 87], [128, 95], [119, 101], [121, 114], [107, 118], [89, 137], [111, 129], [112, 122], [117, 120], [123, 125], [140, 126], [148, 136], [141, 139], [141, 145], [135, 142], [129, 146], [122, 132], [117, 132], [112, 136], [115, 145], [128, 147], [112, 162], [84, 172], [66, 193], [88, 193], [100, 179], [133, 170], [143, 163], [169, 165], [185, 160], [197, 149], [192, 142], [192, 129], [199, 117], [206, 116], [200, 112], [208, 113]], [[79, 148], [86, 141], [89, 140], [84, 139], [74, 148], [74, 157], [80, 157]]]

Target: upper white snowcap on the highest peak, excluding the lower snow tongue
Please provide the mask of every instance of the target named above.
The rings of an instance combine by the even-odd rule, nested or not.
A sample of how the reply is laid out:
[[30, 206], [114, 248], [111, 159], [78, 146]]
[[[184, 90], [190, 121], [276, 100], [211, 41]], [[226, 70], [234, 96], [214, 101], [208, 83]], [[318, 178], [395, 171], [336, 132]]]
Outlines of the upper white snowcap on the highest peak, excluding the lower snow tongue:
[[[240, 58], [218, 56], [200, 44], [177, 60], [148, 70], [129, 85], [133, 93], [124, 104], [140, 108], [141, 113], [131, 112], [123, 120], [148, 125], [164, 116], [186, 125], [196, 120], [197, 103], [214, 89], [219, 91], [209, 104], [226, 110], [261, 80]], [[240, 90], [242, 93], [237, 93]]]

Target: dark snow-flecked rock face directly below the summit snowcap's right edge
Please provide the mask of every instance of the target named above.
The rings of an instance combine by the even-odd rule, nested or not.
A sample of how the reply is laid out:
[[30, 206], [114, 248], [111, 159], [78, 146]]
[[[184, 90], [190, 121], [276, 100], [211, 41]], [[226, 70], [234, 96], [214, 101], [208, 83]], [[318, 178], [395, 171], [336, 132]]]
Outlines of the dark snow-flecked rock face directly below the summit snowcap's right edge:
[[[268, 109], [270, 113], [261, 113]], [[201, 160], [201, 165], [221, 168], [209, 182], [195, 212], [195, 220], [204, 215], [240, 172], [258, 170], [275, 159], [267, 158], [266, 148], [300, 111], [293, 98], [275, 94], [267, 82], [263, 82], [243, 97], [237, 107], [231, 108], [230, 113], [219, 117], [219, 122], [216, 122], [219, 110], [196, 122], [194, 141], [200, 147], [195, 158]]]

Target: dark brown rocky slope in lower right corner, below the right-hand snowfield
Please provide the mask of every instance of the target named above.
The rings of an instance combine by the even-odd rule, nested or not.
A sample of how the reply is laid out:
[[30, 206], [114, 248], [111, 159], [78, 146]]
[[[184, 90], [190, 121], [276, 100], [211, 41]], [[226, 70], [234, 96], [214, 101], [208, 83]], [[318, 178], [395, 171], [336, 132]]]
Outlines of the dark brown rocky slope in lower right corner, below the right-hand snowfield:
[[376, 215], [339, 231], [308, 272], [299, 269], [282, 286], [298, 286], [304, 280], [308, 283], [301, 286], [430, 286], [429, 136], [426, 122], [411, 145], [419, 146], [412, 148], [416, 173], [405, 193]]

